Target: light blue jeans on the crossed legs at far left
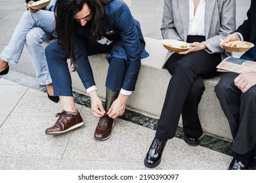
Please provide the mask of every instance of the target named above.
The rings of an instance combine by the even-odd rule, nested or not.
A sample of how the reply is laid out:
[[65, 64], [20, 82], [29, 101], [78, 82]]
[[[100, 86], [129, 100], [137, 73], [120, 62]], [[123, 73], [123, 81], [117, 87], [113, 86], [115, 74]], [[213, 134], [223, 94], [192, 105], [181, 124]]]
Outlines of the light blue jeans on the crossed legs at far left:
[[39, 84], [51, 84], [47, 61], [45, 58], [45, 49], [43, 42], [56, 37], [54, 33], [55, 18], [54, 12], [48, 10], [39, 10], [31, 12], [27, 10], [22, 14], [22, 18], [16, 25], [11, 41], [1, 52], [0, 58], [8, 63], [18, 63], [24, 44], [32, 57], [35, 68], [35, 75]]

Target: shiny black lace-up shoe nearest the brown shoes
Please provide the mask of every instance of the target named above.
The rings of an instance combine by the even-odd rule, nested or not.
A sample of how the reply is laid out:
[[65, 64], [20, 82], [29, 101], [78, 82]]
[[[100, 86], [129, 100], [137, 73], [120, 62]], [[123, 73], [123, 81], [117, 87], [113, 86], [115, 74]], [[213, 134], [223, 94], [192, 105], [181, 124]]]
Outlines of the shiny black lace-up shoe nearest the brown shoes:
[[163, 149], [165, 148], [167, 140], [161, 140], [157, 137], [154, 138], [146, 158], [144, 159], [144, 165], [150, 169], [157, 167], [161, 162], [161, 156]]

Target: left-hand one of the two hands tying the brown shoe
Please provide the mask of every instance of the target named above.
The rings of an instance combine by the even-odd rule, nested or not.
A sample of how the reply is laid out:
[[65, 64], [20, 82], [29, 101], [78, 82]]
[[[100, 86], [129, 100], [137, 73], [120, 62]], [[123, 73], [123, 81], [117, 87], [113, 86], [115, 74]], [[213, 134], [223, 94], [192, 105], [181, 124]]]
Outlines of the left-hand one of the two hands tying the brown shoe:
[[92, 91], [89, 93], [91, 97], [91, 110], [93, 111], [93, 115], [95, 117], [102, 117], [105, 114], [105, 109], [102, 105], [102, 101], [98, 97], [96, 91]]

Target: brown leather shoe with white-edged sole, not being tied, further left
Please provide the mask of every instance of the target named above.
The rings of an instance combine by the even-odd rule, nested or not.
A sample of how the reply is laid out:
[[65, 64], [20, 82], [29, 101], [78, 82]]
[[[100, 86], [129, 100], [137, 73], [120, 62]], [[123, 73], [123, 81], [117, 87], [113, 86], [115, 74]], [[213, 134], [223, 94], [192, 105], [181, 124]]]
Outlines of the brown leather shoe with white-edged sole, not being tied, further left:
[[77, 114], [70, 114], [62, 110], [56, 114], [56, 117], [58, 117], [57, 122], [45, 130], [46, 135], [60, 135], [85, 124], [78, 111]]

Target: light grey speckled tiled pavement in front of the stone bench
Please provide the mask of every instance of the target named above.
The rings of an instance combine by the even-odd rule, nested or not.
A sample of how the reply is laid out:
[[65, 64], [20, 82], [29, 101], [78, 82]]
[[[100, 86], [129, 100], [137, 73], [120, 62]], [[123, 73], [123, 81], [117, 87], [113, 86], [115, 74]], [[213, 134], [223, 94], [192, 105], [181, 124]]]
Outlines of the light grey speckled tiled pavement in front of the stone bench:
[[[143, 164], [155, 131], [117, 119], [107, 141], [95, 141], [98, 119], [77, 104], [85, 126], [56, 137], [45, 135], [60, 103], [45, 92], [0, 79], [0, 169], [146, 169]], [[226, 169], [231, 156], [168, 141], [156, 169]]]

